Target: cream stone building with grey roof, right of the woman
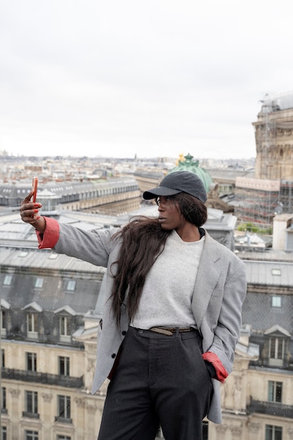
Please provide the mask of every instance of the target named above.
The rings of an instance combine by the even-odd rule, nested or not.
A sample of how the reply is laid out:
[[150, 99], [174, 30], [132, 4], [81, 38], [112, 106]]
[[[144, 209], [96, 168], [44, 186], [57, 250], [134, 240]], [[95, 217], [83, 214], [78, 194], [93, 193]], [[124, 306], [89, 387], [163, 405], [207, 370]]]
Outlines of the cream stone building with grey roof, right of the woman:
[[209, 438], [292, 440], [292, 261], [245, 260], [245, 266], [242, 337], [222, 387], [223, 424], [209, 424]]

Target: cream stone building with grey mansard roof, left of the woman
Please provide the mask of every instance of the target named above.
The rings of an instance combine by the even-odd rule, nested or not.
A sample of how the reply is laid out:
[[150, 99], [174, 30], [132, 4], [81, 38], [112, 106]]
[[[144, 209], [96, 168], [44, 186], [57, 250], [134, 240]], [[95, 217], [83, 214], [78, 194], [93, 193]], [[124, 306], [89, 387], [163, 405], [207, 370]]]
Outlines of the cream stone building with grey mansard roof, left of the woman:
[[84, 316], [103, 268], [35, 247], [0, 252], [1, 440], [95, 439], [104, 395], [89, 391], [96, 337]]

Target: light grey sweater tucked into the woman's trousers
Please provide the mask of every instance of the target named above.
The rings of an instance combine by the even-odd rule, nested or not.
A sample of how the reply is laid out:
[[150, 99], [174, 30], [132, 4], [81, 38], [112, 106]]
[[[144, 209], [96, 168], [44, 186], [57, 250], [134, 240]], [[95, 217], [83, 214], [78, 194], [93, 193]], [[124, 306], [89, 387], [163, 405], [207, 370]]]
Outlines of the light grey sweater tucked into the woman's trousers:
[[195, 327], [191, 300], [203, 246], [204, 237], [185, 242], [175, 231], [169, 235], [145, 279], [133, 327]]

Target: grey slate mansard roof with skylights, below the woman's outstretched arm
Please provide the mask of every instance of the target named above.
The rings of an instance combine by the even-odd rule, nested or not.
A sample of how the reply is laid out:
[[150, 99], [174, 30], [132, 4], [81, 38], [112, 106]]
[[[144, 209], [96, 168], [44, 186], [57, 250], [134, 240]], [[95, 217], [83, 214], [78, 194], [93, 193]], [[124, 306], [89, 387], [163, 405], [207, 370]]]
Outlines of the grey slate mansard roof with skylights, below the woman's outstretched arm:
[[[67, 305], [79, 314], [95, 309], [105, 268], [51, 250], [1, 247], [0, 252], [1, 298], [14, 308], [36, 302], [48, 311]], [[4, 285], [7, 273], [10, 285]], [[42, 287], [35, 287], [37, 278], [43, 278]], [[74, 291], [67, 290], [69, 280], [76, 281]]]

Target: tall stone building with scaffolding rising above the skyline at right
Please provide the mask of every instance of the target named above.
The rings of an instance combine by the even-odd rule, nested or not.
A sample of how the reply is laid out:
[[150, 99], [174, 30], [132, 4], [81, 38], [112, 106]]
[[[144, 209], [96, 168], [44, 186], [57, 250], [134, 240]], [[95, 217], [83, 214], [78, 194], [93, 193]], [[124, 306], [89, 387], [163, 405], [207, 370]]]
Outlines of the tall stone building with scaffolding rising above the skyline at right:
[[237, 177], [235, 212], [270, 228], [275, 214], [293, 212], [293, 92], [265, 96], [253, 126], [255, 176]]

